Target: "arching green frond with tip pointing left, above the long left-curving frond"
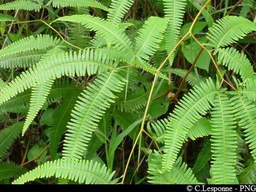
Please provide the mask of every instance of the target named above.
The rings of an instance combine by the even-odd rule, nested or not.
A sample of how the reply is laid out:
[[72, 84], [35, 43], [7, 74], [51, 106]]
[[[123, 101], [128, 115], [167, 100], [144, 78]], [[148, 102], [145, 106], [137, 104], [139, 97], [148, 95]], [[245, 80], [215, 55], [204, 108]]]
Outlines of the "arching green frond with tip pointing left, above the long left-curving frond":
[[115, 45], [113, 49], [124, 54], [126, 60], [134, 60], [134, 51], [131, 46], [131, 40], [124, 31], [118, 28], [115, 24], [100, 19], [100, 17], [93, 17], [92, 15], [72, 15], [56, 19], [56, 21], [67, 21], [80, 23], [86, 28], [97, 31], [99, 35], [104, 36], [108, 44]]

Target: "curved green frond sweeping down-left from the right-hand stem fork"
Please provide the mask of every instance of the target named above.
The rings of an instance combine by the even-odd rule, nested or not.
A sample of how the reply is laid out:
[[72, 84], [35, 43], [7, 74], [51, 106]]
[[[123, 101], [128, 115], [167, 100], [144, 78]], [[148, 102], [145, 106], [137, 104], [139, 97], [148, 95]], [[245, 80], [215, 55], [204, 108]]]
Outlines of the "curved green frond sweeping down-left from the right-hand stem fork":
[[211, 79], [196, 85], [190, 93], [184, 95], [173, 110], [164, 136], [165, 148], [163, 169], [170, 171], [177, 158], [182, 143], [193, 124], [211, 108], [214, 96], [218, 91]]

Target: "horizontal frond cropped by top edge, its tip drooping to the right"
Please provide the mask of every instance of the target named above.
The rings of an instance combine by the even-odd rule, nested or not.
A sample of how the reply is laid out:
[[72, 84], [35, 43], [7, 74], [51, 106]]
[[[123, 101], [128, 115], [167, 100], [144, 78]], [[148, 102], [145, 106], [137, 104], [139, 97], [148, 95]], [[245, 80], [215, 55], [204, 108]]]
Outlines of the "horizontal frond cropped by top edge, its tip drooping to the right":
[[102, 10], [108, 11], [108, 8], [106, 6], [104, 6], [104, 4], [100, 3], [99, 1], [95, 1], [95, 0], [52, 0], [52, 6], [56, 7], [56, 8], [63, 8], [63, 7], [67, 7], [67, 6], [90, 6], [93, 8], [100, 8]]

